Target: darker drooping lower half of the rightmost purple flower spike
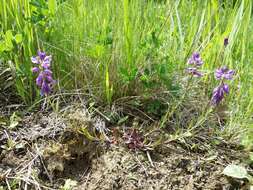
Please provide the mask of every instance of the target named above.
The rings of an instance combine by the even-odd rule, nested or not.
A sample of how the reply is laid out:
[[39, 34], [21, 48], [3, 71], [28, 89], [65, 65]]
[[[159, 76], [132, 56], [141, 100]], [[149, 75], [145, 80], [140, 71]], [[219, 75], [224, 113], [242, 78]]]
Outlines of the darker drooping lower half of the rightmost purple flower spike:
[[211, 102], [213, 105], [218, 105], [224, 98], [224, 95], [229, 93], [229, 87], [227, 84], [220, 84], [213, 90]]

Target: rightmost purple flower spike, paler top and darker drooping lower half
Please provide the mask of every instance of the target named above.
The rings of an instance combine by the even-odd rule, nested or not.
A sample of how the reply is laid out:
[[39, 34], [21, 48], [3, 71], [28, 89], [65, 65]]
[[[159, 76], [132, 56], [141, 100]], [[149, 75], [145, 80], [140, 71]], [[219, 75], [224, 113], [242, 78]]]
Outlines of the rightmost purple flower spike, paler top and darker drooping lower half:
[[229, 94], [229, 86], [224, 83], [224, 80], [231, 80], [235, 74], [234, 70], [229, 70], [226, 66], [217, 69], [215, 72], [216, 80], [220, 80], [221, 83], [213, 90], [211, 102], [214, 105], [218, 105], [225, 94]]

